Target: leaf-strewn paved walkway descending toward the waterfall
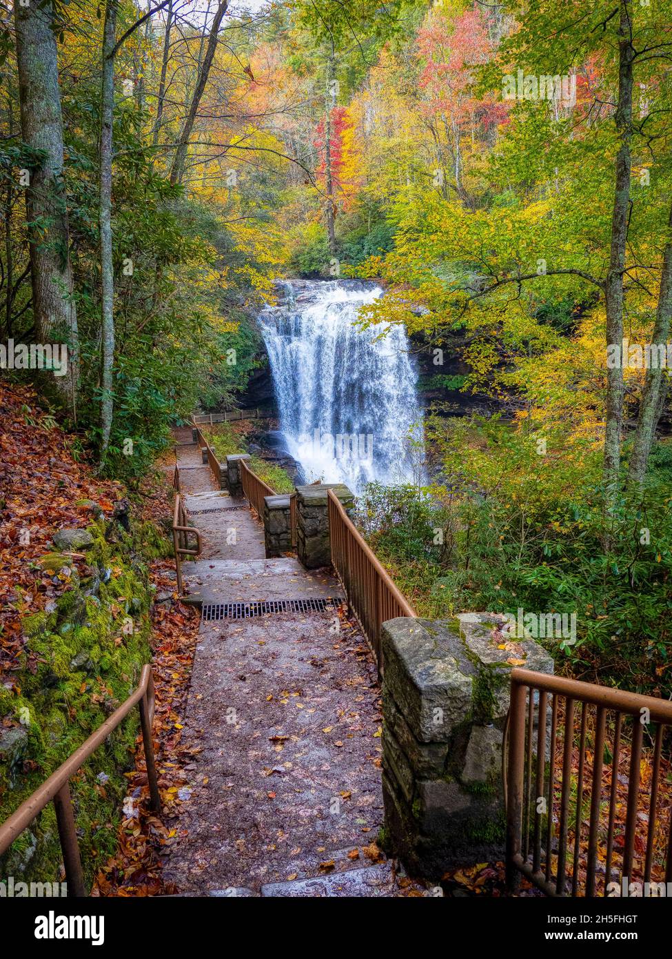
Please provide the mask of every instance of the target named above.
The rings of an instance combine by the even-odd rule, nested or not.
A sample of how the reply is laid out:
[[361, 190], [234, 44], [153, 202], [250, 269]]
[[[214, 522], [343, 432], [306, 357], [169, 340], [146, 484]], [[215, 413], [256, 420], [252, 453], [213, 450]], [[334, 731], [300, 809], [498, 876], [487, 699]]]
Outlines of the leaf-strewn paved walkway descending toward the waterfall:
[[196, 447], [176, 453], [203, 538], [203, 558], [183, 566], [193, 600], [333, 604], [201, 620], [182, 732], [201, 751], [171, 823], [166, 878], [183, 895], [417, 896], [375, 844], [381, 690], [338, 582], [295, 558], [266, 559], [247, 504], [213, 489]]

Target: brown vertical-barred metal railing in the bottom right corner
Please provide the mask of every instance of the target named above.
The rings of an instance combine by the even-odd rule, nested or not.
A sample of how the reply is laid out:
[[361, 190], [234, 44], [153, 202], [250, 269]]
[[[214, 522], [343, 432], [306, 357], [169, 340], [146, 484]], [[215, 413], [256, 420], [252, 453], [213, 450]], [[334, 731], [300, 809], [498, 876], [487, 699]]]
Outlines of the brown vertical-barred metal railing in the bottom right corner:
[[[560, 707], [560, 701], [563, 705]], [[577, 709], [580, 707], [580, 710]], [[548, 731], [548, 713], [551, 714]], [[579, 742], [576, 743], [575, 716], [580, 713]], [[607, 736], [608, 713], [613, 713], [612, 748]], [[518, 887], [520, 874], [547, 896], [595, 895], [598, 838], [606, 832], [604, 895], [612, 881], [614, 827], [618, 809], [618, 766], [621, 746], [626, 740], [624, 717], [632, 716], [627, 802], [623, 826], [621, 881], [632, 877], [637, 830], [646, 829], [643, 881], [650, 882], [654, 864], [654, 841], [662, 828], [658, 808], [662, 743], [665, 727], [672, 726], [672, 703], [656, 696], [614, 690], [561, 676], [515, 668], [511, 672], [511, 702], [506, 719], [505, 783], [506, 879], [510, 891]], [[535, 728], [536, 720], [536, 728]], [[653, 766], [649, 797], [648, 826], [637, 816], [640, 792], [640, 763], [644, 727], [658, 724], [654, 735]], [[562, 760], [556, 763], [559, 727], [563, 726]], [[548, 735], [549, 733], [549, 735]], [[591, 744], [588, 751], [587, 739]], [[546, 758], [546, 754], [548, 757]], [[611, 755], [612, 775], [609, 814], [603, 814], [603, 772], [605, 754]], [[578, 768], [573, 763], [578, 755]], [[556, 768], [557, 765], [557, 768]], [[557, 778], [556, 778], [557, 777]], [[588, 798], [585, 784], [590, 780], [590, 818], [585, 820]], [[624, 781], [625, 782], [625, 781]], [[596, 787], [595, 787], [595, 784]], [[557, 792], [560, 790], [559, 802]], [[540, 799], [544, 803], [540, 804]], [[575, 806], [572, 814], [571, 804]], [[543, 817], [545, 816], [545, 828]], [[606, 821], [605, 821], [606, 818]], [[573, 822], [572, 822], [573, 820]], [[557, 824], [557, 835], [554, 835]], [[568, 849], [573, 827], [573, 852]], [[667, 818], [665, 882], [672, 881], [672, 820]], [[585, 835], [587, 830], [588, 835]], [[587, 838], [586, 877], [578, 868], [582, 840]], [[619, 849], [621, 847], [618, 847]], [[568, 860], [572, 860], [568, 870]], [[600, 867], [601, 868], [601, 867]], [[568, 875], [570, 873], [570, 875]], [[570, 883], [570, 884], [569, 884]], [[569, 891], [568, 891], [569, 890]]]

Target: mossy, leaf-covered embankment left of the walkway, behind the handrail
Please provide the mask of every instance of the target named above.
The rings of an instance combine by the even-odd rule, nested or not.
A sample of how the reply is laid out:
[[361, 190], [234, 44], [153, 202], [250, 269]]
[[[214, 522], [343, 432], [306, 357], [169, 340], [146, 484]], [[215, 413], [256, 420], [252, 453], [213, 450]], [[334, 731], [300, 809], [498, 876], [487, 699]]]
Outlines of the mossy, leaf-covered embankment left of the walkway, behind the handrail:
[[[8, 391], [0, 400], [2, 460], [36, 453], [22, 475], [0, 475], [3, 821], [137, 686], [151, 661], [149, 564], [170, 547], [121, 484], [75, 461], [53, 421]], [[138, 727], [133, 710], [71, 780], [88, 883], [117, 842]], [[49, 804], [0, 856], [0, 879], [58, 881], [61, 860]]]

